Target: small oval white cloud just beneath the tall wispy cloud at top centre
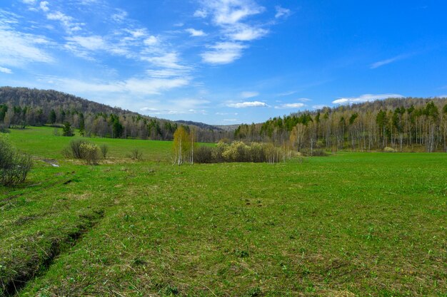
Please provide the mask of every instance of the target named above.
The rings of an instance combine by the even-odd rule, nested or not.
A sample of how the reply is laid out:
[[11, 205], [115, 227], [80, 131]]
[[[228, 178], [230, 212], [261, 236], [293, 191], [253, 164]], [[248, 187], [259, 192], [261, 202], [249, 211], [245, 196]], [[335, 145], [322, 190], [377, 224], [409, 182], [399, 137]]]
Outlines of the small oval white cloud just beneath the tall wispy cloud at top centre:
[[210, 64], [228, 64], [242, 56], [243, 48], [246, 46], [240, 43], [219, 42], [214, 46], [209, 46], [210, 51], [201, 53], [204, 62]]

